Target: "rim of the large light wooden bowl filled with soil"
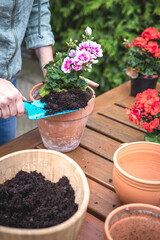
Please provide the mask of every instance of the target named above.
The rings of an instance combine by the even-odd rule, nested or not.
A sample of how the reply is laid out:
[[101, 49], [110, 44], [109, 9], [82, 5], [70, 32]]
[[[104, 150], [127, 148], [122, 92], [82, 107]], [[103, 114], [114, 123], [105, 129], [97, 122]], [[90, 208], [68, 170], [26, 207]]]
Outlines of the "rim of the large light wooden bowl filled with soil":
[[45, 153], [54, 153], [55, 155], [62, 156], [63, 158], [67, 159], [69, 162], [71, 162], [76, 169], [78, 169], [80, 175], [84, 176], [83, 177], [83, 185], [84, 185], [84, 199], [82, 201], [82, 204], [80, 207], [78, 207], [78, 210], [75, 212], [73, 216], [71, 216], [68, 220], [65, 222], [62, 222], [56, 226], [48, 227], [48, 228], [40, 228], [40, 229], [25, 229], [25, 228], [14, 228], [14, 227], [6, 227], [6, 226], [0, 226], [0, 231], [4, 233], [8, 233], [9, 235], [15, 234], [19, 236], [43, 236], [43, 235], [50, 235], [52, 233], [58, 233], [69, 226], [71, 226], [74, 222], [78, 221], [83, 213], [83, 209], [87, 209], [88, 202], [89, 202], [89, 197], [90, 197], [90, 190], [89, 190], [89, 185], [88, 181], [86, 179], [86, 176], [81, 169], [81, 167], [70, 157], [65, 155], [64, 153], [55, 151], [55, 150], [49, 150], [49, 149], [28, 149], [28, 150], [20, 150], [16, 151], [10, 154], [7, 154], [3, 157], [0, 158], [0, 161], [4, 160], [6, 157], [14, 156], [17, 155], [17, 153], [27, 153], [27, 152], [45, 152]]

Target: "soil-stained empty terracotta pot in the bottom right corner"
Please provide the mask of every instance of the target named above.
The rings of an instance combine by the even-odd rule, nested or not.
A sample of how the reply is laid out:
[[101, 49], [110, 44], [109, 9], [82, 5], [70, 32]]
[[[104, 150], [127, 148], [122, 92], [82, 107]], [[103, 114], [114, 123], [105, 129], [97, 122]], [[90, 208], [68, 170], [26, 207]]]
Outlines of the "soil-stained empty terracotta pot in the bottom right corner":
[[113, 210], [105, 221], [108, 240], [158, 240], [160, 208], [149, 204], [128, 204]]

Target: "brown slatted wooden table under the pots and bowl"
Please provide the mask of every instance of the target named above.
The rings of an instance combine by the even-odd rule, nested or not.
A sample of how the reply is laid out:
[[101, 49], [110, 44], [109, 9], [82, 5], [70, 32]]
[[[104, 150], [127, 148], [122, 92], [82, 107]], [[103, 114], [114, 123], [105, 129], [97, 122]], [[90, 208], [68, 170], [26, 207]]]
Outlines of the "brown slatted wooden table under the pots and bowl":
[[[114, 152], [121, 143], [142, 141], [145, 135], [145, 130], [125, 114], [129, 103], [135, 102], [129, 94], [130, 82], [126, 82], [97, 97], [80, 146], [67, 153], [83, 169], [90, 187], [88, 211], [78, 240], [104, 239], [105, 218], [121, 205], [112, 183]], [[1, 146], [0, 157], [33, 148], [44, 148], [37, 128]]]

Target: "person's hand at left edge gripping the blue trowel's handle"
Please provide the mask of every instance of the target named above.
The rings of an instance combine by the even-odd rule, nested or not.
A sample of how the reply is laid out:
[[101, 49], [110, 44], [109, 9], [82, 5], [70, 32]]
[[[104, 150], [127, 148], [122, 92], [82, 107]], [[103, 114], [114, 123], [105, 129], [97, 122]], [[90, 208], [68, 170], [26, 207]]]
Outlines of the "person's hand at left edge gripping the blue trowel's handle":
[[24, 113], [25, 98], [8, 80], [0, 78], [0, 117], [21, 117]]

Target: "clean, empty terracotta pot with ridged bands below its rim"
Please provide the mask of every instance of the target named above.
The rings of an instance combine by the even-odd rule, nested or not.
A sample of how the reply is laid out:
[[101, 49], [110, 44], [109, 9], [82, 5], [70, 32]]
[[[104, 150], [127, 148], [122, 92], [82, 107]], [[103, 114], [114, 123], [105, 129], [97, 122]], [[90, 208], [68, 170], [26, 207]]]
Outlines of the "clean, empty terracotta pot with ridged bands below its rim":
[[123, 203], [160, 206], [160, 147], [157, 143], [133, 142], [114, 154], [113, 184]]

